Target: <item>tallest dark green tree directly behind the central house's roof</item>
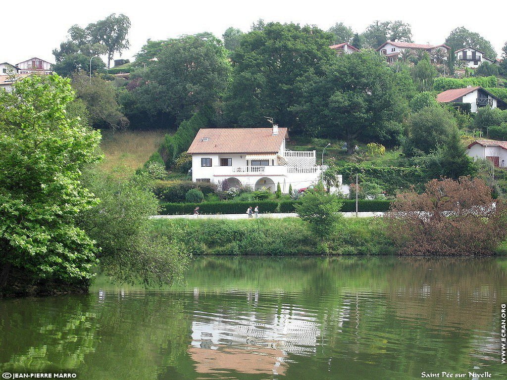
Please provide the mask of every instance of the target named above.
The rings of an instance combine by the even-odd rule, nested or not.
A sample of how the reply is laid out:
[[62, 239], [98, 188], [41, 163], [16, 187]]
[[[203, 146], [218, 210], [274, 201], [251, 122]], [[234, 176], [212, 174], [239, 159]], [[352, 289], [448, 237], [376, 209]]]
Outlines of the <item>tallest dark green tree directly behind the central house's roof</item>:
[[298, 115], [289, 110], [301, 96], [296, 81], [335, 57], [329, 46], [332, 35], [314, 26], [268, 23], [262, 30], [245, 34], [232, 54], [231, 90], [226, 115], [243, 127], [274, 118], [282, 127], [300, 131]]

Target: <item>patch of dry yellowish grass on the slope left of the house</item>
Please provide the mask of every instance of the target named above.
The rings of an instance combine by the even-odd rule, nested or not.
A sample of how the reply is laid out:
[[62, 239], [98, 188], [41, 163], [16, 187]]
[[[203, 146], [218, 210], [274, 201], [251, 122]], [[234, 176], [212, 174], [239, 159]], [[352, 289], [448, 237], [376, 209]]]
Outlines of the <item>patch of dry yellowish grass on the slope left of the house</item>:
[[105, 156], [102, 168], [111, 172], [135, 172], [158, 149], [164, 134], [162, 130], [102, 131], [100, 146]]

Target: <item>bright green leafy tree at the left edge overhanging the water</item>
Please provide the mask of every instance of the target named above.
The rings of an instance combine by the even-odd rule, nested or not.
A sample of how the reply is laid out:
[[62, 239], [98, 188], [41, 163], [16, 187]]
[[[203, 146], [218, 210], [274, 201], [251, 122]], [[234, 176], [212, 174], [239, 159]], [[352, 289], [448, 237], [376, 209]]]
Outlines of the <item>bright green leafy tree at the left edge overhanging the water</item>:
[[1, 291], [16, 277], [84, 289], [93, 278], [96, 249], [75, 218], [96, 204], [80, 178], [99, 159], [100, 134], [67, 116], [73, 99], [58, 75], [0, 91]]

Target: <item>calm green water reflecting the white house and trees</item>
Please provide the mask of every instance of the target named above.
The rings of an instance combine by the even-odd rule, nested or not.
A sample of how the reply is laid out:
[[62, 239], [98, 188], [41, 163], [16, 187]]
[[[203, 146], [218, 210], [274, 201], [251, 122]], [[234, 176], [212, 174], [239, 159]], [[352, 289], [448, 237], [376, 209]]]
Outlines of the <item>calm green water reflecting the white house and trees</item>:
[[0, 300], [0, 372], [505, 379], [501, 303], [505, 258], [203, 257], [173, 289]]

